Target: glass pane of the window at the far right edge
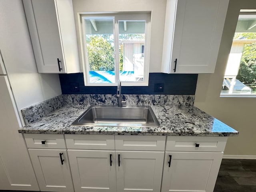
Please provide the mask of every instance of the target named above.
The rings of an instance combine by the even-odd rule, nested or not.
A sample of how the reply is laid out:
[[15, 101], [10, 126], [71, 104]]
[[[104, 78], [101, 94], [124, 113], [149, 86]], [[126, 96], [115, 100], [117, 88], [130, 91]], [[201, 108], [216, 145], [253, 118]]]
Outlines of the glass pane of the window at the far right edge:
[[256, 15], [240, 12], [221, 94], [256, 94]]

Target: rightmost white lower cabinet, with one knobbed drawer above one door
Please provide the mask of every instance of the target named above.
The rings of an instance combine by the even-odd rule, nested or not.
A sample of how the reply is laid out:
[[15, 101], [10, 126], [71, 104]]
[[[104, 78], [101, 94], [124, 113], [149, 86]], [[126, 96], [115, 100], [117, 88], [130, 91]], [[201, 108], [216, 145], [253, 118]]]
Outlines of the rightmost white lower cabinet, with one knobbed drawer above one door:
[[161, 192], [213, 192], [226, 141], [167, 136]]

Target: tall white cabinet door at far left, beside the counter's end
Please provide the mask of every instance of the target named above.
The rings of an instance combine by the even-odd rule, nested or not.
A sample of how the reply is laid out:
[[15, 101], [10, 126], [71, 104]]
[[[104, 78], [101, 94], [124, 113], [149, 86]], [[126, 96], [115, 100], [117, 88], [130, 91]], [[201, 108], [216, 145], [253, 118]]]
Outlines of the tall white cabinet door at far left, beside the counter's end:
[[12, 91], [0, 76], [0, 190], [39, 190], [22, 134]]

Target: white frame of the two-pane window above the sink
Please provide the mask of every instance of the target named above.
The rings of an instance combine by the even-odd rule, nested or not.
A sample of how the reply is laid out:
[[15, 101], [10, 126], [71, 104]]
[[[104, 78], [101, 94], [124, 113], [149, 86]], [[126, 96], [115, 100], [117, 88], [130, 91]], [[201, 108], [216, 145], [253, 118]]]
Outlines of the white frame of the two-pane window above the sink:
[[[122, 86], [148, 86], [148, 77], [149, 77], [149, 53], [150, 53], [150, 14], [149, 13], [125, 13], [125, 14], [102, 14], [101, 13], [86, 13], [86, 14], [78, 14], [79, 17], [79, 32], [80, 32], [80, 43], [81, 43], [81, 52], [82, 52], [82, 66], [83, 66], [83, 74], [84, 74], [84, 84], [85, 86], [117, 86], [117, 81], [119, 77], [119, 68], [117, 68], [116, 62], [119, 63], [119, 54], [115, 54], [115, 81], [116, 83], [89, 83], [89, 65], [87, 58], [87, 50], [86, 50], [86, 39], [85, 39], [85, 24], [84, 17], [114, 17], [114, 45], [118, 45], [118, 20], [146, 20], [145, 23], [145, 44], [144, 44], [144, 81], [143, 82], [126, 82], [122, 81]], [[118, 50], [114, 46], [114, 51]]]

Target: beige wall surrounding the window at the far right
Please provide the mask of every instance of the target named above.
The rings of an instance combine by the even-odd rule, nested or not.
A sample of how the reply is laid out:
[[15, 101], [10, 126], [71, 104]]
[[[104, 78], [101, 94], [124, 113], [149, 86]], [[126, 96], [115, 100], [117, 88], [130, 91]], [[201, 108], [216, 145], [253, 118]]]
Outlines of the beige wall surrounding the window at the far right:
[[225, 155], [256, 155], [256, 98], [220, 98], [240, 9], [256, 9], [256, 1], [230, 0], [215, 72], [198, 75], [194, 105], [240, 132], [228, 138]]

